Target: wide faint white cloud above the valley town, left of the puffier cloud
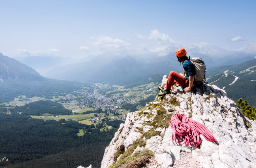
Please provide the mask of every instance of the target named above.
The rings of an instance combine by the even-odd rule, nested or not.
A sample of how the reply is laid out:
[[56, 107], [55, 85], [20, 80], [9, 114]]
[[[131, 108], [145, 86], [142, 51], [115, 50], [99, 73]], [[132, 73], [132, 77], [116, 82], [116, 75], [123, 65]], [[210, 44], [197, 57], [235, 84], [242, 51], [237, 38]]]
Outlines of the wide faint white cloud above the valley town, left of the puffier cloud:
[[95, 40], [95, 42], [92, 42], [94, 46], [106, 49], [120, 49], [131, 45], [131, 43], [127, 43], [124, 40], [113, 39], [109, 36], [91, 37], [91, 39]]

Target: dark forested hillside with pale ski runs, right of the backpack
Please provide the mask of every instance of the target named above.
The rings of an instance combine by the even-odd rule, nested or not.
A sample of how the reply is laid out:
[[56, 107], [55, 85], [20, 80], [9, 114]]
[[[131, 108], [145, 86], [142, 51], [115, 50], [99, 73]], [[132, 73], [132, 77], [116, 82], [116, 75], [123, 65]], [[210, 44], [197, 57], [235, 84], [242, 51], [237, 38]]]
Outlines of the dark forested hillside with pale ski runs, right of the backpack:
[[247, 99], [251, 106], [256, 106], [256, 59], [233, 66], [210, 68], [206, 71], [207, 82], [224, 88], [234, 100]]

